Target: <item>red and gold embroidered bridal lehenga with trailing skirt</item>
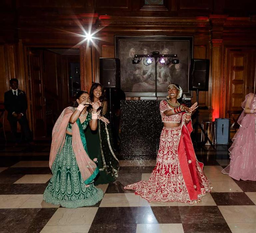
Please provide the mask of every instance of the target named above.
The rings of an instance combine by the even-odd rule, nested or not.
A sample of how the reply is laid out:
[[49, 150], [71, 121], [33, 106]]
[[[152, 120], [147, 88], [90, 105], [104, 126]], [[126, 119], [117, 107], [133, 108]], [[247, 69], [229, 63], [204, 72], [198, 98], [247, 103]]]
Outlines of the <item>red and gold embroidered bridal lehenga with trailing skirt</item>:
[[147, 201], [199, 202], [210, 192], [210, 182], [203, 173], [203, 163], [198, 162], [190, 138], [191, 121], [185, 123], [185, 114], [165, 116], [171, 107], [163, 100], [160, 113], [163, 122], [181, 122], [178, 127], [163, 127], [156, 166], [149, 180], [129, 184], [125, 189], [135, 190]]

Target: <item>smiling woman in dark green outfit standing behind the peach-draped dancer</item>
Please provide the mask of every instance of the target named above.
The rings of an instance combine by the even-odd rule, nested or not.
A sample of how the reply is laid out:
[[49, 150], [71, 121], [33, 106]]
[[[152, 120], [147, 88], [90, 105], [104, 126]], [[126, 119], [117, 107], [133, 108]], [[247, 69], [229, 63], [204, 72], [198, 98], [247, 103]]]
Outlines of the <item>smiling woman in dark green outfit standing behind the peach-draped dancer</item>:
[[97, 166], [100, 170], [94, 184], [107, 184], [115, 181], [118, 177], [119, 161], [112, 149], [112, 135], [109, 128], [107, 113], [107, 101], [104, 100], [103, 86], [94, 83], [90, 89], [90, 99], [93, 103], [100, 101], [101, 107], [98, 109], [98, 128], [96, 131], [89, 127], [85, 130], [88, 153], [91, 159], [97, 158]]

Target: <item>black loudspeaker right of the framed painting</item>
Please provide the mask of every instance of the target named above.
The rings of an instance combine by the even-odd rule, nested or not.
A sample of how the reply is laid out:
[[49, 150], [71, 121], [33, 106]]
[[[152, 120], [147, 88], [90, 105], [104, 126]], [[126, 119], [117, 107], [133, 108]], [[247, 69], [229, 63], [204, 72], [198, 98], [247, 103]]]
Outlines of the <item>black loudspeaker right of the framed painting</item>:
[[209, 59], [191, 59], [189, 71], [189, 90], [208, 91]]

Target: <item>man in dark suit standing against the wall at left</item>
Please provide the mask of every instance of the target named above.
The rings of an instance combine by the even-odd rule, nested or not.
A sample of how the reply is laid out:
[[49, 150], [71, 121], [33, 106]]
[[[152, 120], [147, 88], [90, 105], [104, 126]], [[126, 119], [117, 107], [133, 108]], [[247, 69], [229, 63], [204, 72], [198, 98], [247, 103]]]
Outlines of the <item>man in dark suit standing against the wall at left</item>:
[[18, 89], [19, 81], [10, 80], [11, 90], [4, 93], [4, 107], [8, 112], [11, 131], [15, 142], [17, 143], [17, 122], [20, 123], [23, 139], [31, 142], [31, 131], [26, 116], [27, 98], [25, 92]]

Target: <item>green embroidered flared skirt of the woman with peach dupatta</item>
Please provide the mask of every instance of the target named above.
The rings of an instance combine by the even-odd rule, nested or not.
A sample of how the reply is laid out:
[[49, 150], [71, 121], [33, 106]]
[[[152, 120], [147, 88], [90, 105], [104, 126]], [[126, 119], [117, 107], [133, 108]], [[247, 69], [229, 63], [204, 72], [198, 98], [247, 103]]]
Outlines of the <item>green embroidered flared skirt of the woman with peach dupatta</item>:
[[44, 200], [67, 208], [95, 205], [103, 197], [94, 184], [85, 187], [72, 148], [72, 136], [66, 134], [65, 143], [52, 164], [53, 176], [44, 191]]

